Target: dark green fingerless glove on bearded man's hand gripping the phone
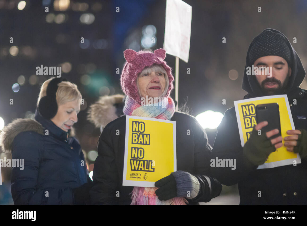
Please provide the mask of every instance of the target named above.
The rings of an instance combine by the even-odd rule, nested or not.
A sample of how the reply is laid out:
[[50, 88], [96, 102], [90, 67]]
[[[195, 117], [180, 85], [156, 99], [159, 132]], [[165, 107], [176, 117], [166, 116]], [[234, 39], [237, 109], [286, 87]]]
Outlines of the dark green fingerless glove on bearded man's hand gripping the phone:
[[[270, 153], [274, 152], [275, 146], [271, 140], [266, 137], [266, 133], [258, 135], [255, 129], [252, 131], [250, 138], [243, 147], [243, 157], [246, 165], [262, 165]], [[247, 160], [250, 162], [248, 163]]]

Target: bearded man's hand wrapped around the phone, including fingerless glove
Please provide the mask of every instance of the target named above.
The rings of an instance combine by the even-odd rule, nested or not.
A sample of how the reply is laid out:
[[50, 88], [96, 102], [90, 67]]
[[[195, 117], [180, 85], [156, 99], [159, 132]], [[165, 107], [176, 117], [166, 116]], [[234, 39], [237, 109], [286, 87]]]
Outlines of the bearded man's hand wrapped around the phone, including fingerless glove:
[[251, 162], [253, 165], [262, 165], [265, 163], [266, 158], [270, 155], [270, 153], [274, 152], [276, 149], [282, 147], [283, 145], [281, 136], [270, 139], [270, 137], [278, 134], [278, 129], [273, 129], [269, 132], [261, 133], [261, 135], [258, 135], [258, 130], [261, 130], [266, 125], [268, 125], [267, 121], [258, 123], [254, 127], [250, 138], [243, 147], [244, 158]]

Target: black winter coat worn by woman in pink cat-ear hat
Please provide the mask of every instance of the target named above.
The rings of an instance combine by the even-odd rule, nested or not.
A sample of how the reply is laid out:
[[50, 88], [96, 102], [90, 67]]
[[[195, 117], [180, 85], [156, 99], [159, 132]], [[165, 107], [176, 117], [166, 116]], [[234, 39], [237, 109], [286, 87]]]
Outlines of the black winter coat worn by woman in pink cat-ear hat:
[[[209, 202], [219, 196], [222, 185], [209, 173], [207, 134], [196, 119], [188, 114], [175, 112], [171, 121], [176, 121], [177, 170], [196, 176], [200, 181], [200, 192], [189, 204]], [[120, 135], [117, 136], [116, 130]], [[187, 135], [187, 130], [191, 135]], [[94, 186], [90, 191], [93, 204], [131, 203], [131, 186], [122, 186], [125, 153], [126, 116], [110, 122], [101, 133], [98, 141], [98, 157], [94, 165]], [[210, 179], [208, 182], [206, 177]], [[119, 196], [116, 192], [119, 191]]]

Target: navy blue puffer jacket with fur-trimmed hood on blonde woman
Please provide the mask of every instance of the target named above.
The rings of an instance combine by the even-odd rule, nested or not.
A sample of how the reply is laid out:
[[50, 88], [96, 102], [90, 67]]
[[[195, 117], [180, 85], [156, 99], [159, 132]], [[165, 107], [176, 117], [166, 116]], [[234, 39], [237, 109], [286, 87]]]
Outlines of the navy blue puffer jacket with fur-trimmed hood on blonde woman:
[[14, 204], [75, 204], [72, 188], [90, 181], [81, 146], [37, 110], [35, 120], [16, 119], [1, 133], [2, 149], [24, 159], [11, 174]]

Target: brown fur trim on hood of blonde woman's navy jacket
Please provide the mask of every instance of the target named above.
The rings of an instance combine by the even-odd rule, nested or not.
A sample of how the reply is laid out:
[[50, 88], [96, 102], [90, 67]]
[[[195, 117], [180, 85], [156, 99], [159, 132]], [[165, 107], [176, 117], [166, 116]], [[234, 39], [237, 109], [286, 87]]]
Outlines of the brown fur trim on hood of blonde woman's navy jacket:
[[[33, 119], [23, 119], [17, 118], [13, 120], [11, 123], [6, 125], [0, 131], [0, 146], [2, 152], [9, 153], [12, 149], [12, 144], [14, 138], [21, 132], [25, 131], [34, 131], [38, 134], [44, 135], [45, 128], [36, 120]], [[69, 137], [73, 137], [75, 135], [74, 128], [70, 129]]]

